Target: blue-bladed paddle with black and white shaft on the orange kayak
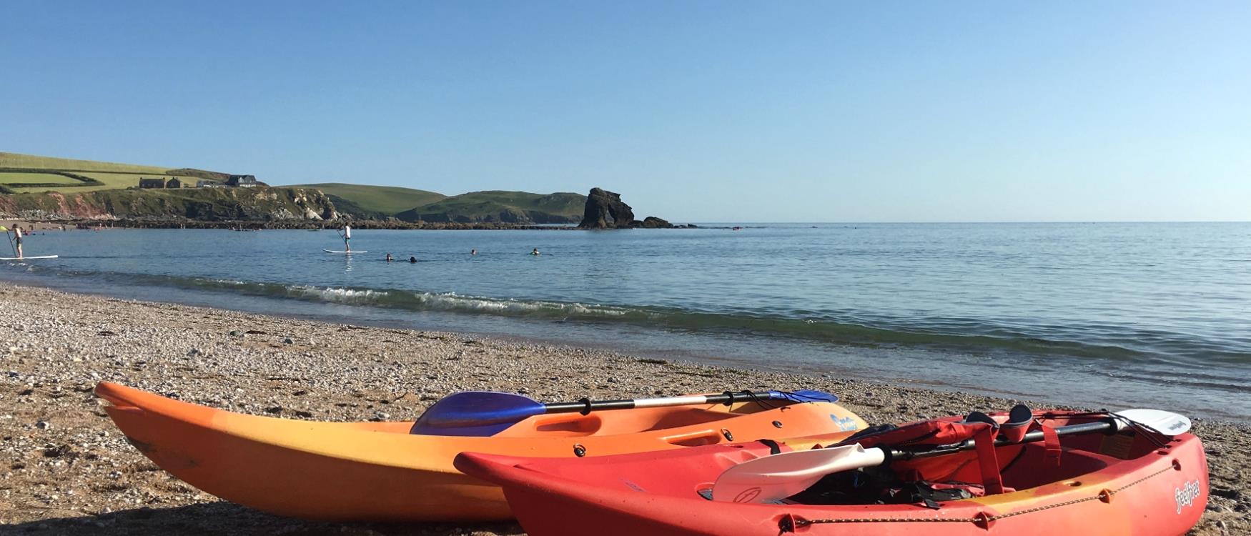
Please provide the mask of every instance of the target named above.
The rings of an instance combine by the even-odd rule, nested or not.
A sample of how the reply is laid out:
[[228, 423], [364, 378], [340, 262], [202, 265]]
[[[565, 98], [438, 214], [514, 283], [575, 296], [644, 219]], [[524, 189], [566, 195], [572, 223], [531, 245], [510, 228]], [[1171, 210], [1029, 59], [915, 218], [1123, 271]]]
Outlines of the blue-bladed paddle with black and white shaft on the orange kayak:
[[465, 391], [439, 400], [413, 424], [409, 434], [437, 436], [492, 436], [533, 417], [547, 414], [587, 415], [592, 411], [631, 410], [636, 407], [692, 406], [702, 404], [733, 404], [748, 400], [789, 400], [793, 402], [836, 402], [838, 397], [827, 392], [799, 390], [786, 391], [726, 391], [719, 395], [687, 395], [662, 399], [626, 399], [577, 402], [542, 404], [512, 392]]

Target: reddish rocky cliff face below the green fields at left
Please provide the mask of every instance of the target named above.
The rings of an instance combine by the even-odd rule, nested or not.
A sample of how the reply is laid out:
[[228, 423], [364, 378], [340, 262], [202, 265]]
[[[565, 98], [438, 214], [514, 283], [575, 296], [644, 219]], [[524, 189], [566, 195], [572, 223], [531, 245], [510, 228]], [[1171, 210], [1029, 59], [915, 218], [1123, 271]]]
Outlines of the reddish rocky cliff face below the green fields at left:
[[0, 215], [33, 220], [324, 221], [339, 219], [320, 190], [204, 187], [0, 195]]

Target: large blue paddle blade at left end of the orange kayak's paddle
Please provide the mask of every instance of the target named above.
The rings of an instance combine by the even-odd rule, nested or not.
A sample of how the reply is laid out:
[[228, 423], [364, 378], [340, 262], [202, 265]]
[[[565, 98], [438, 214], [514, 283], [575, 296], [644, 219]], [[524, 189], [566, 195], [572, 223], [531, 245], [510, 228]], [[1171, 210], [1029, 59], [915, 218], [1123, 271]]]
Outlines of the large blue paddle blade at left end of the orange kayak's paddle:
[[512, 392], [457, 392], [425, 410], [409, 434], [487, 437], [545, 410], [533, 399]]

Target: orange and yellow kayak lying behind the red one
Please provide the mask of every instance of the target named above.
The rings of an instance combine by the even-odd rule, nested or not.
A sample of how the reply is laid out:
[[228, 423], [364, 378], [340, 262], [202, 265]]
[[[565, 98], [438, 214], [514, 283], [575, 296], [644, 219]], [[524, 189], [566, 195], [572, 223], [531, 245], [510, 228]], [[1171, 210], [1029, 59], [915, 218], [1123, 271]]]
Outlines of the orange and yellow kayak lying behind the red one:
[[867, 426], [831, 402], [738, 401], [538, 415], [489, 437], [417, 435], [409, 432], [414, 421], [263, 417], [110, 382], [95, 394], [111, 404], [105, 411], [131, 444], [183, 481], [256, 510], [325, 521], [513, 519], [499, 486], [453, 467], [467, 451], [572, 459], [732, 437], [828, 440]]

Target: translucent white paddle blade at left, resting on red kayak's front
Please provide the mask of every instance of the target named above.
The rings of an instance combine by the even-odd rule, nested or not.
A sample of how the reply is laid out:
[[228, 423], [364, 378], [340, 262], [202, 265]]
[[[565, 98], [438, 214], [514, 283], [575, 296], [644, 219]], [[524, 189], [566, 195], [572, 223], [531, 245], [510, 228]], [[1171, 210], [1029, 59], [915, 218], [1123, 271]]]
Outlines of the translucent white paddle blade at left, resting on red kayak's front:
[[886, 452], [847, 445], [783, 452], [738, 464], [717, 477], [712, 500], [769, 502], [789, 497], [832, 472], [882, 465]]

